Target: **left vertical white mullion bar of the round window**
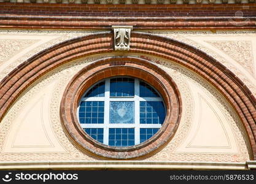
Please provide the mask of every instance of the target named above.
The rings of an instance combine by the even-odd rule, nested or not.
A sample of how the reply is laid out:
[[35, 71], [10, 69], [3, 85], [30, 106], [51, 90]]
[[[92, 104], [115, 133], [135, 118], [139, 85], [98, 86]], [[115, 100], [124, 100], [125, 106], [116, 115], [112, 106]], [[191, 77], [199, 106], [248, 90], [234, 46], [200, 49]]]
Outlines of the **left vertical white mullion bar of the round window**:
[[109, 97], [110, 97], [110, 79], [105, 81], [105, 100], [104, 100], [104, 130], [103, 144], [109, 145]]

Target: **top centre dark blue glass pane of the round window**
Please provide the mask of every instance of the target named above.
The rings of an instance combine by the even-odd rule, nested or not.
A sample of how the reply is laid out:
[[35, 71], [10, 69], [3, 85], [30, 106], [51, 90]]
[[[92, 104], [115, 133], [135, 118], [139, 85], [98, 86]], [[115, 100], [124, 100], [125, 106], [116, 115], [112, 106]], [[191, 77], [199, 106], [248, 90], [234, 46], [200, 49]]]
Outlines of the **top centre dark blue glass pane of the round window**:
[[110, 96], [134, 96], [134, 79], [115, 78], [111, 79]]

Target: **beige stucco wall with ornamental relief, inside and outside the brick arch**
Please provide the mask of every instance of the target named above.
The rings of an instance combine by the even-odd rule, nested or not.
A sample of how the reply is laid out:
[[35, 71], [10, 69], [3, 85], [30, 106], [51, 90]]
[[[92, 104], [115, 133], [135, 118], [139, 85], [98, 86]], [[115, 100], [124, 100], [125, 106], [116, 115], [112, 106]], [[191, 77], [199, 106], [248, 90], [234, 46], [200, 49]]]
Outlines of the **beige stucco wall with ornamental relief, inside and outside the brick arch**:
[[[0, 79], [51, 45], [86, 31], [0, 31]], [[154, 32], [200, 48], [234, 72], [256, 95], [255, 32]], [[115, 55], [120, 55], [116, 53]], [[168, 72], [182, 96], [182, 119], [169, 144], [145, 161], [249, 161], [247, 135], [231, 105], [192, 71], [146, 55]], [[69, 80], [96, 55], [61, 66], [37, 80], [0, 123], [0, 161], [96, 161], [76, 148], [60, 123], [60, 101]]]

